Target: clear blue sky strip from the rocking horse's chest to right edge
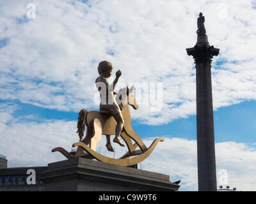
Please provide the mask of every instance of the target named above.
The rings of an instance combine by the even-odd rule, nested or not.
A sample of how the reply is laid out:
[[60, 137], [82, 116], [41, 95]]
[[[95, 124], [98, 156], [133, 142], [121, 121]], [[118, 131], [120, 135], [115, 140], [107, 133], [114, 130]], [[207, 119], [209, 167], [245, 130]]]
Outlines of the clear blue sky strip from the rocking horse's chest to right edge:
[[[246, 101], [237, 105], [219, 108], [214, 112], [214, 135], [216, 142], [255, 142], [256, 102]], [[134, 122], [135, 123], [135, 122]], [[141, 136], [170, 135], [178, 138], [196, 140], [196, 115], [188, 119], [173, 120], [162, 126], [138, 124], [134, 129]]]

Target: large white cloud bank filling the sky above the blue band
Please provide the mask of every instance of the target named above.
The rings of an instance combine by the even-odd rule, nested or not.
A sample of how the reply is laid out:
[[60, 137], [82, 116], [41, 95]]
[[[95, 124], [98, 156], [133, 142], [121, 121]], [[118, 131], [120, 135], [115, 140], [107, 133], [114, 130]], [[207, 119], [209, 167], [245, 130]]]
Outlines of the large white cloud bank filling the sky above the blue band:
[[210, 43], [221, 48], [214, 62], [225, 61], [221, 69], [213, 63], [214, 109], [256, 99], [251, 1], [34, 1], [36, 19], [17, 24], [27, 3], [1, 1], [0, 40], [9, 40], [0, 48], [1, 99], [66, 111], [98, 108], [97, 65], [108, 60], [125, 84], [163, 81], [166, 87], [163, 112], [141, 106], [136, 119], [163, 124], [193, 115], [195, 69], [185, 49], [196, 43], [199, 11]]

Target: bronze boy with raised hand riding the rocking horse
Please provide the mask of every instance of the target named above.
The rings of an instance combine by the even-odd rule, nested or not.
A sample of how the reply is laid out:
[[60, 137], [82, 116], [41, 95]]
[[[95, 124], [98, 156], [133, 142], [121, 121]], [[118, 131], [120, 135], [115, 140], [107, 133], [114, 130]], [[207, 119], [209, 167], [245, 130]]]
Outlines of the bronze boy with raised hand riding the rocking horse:
[[[114, 119], [117, 122], [116, 131], [115, 131], [115, 138], [113, 142], [118, 143], [120, 146], [124, 147], [124, 144], [120, 140], [120, 135], [122, 133], [122, 129], [124, 127], [124, 119], [121, 113], [121, 110], [116, 102], [114, 97], [114, 89], [115, 85], [118, 82], [119, 77], [122, 75], [120, 70], [116, 71], [116, 78], [113, 84], [109, 85], [107, 78], [111, 76], [111, 72], [113, 70], [113, 66], [111, 62], [102, 61], [99, 63], [98, 72], [99, 77], [95, 80], [96, 87], [100, 92], [100, 111], [106, 111], [109, 115], [113, 115]], [[113, 152], [113, 147], [110, 143], [110, 136], [106, 135], [107, 137], [107, 144], [106, 147], [109, 151]]]

